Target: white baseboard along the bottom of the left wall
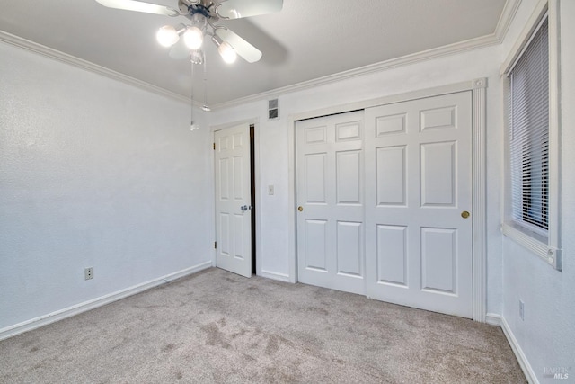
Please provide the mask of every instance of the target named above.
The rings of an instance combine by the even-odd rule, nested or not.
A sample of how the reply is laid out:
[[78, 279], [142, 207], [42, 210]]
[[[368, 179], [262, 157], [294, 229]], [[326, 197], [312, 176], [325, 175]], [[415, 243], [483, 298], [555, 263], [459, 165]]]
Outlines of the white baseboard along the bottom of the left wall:
[[118, 301], [119, 299], [125, 299], [128, 296], [135, 295], [137, 293], [143, 292], [144, 290], [149, 290], [150, 288], [157, 287], [158, 285], [165, 284], [166, 282], [174, 281], [192, 273], [211, 268], [211, 266], [211, 260], [205, 263], [199, 263], [179, 272], [173, 272], [160, 278], [137, 284], [126, 290], [119, 290], [100, 298], [91, 299], [84, 301], [83, 303], [76, 304], [72, 307], [57, 310], [55, 312], [49, 313], [48, 315], [35, 317], [13, 326], [7, 326], [3, 329], [0, 329], [0, 340], [4, 340], [15, 335], [20, 335], [24, 332], [31, 331], [32, 329], [40, 328], [40, 326], [47, 326], [51, 323], [65, 319], [66, 317], [73, 317], [90, 309], [102, 307], [106, 304], [110, 304], [111, 302]]

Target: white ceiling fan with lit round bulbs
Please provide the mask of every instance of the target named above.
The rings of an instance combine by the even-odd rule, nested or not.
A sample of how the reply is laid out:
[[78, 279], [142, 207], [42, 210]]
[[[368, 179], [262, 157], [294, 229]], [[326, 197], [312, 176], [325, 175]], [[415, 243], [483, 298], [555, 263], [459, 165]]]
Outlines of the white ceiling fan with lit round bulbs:
[[259, 49], [217, 22], [279, 12], [283, 7], [283, 0], [178, 0], [177, 9], [137, 0], [96, 1], [109, 8], [186, 17], [187, 24], [165, 25], [157, 32], [156, 38], [164, 47], [172, 47], [172, 58], [190, 58], [193, 64], [204, 61], [201, 47], [206, 36], [216, 45], [226, 63], [233, 63], [237, 56], [248, 63], [260, 60]]

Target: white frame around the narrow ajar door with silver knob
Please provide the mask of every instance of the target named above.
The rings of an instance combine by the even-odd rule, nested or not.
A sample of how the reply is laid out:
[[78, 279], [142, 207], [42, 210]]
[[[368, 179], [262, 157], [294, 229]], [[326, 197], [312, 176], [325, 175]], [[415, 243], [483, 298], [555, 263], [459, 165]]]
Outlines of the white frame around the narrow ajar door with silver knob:
[[[210, 184], [210, 193], [211, 193], [211, 207], [210, 210], [212, 212], [212, 223], [211, 228], [213, 228], [213, 238], [214, 242], [216, 241], [216, 165], [214, 164], [214, 154], [213, 154], [213, 143], [215, 142], [215, 135], [217, 130], [233, 128], [240, 124], [247, 124], [249, 126], [253, 126], [253, 174], [251, 174], [251, 178], [254, 177], [255, 179], [255, 207], [252, 210], [252, 219], [255, 219], [255, 228], [252, 228], [252, 252], [255, 250], [255, 267], [256, 267], [256, 275], [261, 276], [261, 180], [260, 180], [260, 119], [246, 119], [242, 121], [234, 121], [234, 122], [226, 122], [223, 124], [217, 124], [209, 127], [209, 143], [207, 144], [209, 150], [212, 152], [209, 160], [209, 173], [211, 174], [212, 183]], [[250, 181], [250, 183], [252, 183]], [[253, 195], [252, 195], [253, 200]], [[253, 241], [255, 240], [255, 241]], [[216, 249], [212, 247], [212, 266], [216, 266]], [[253, 260], [252, 260], [253, 263]], [[253, 269], [253, 265], [252, 265]]]

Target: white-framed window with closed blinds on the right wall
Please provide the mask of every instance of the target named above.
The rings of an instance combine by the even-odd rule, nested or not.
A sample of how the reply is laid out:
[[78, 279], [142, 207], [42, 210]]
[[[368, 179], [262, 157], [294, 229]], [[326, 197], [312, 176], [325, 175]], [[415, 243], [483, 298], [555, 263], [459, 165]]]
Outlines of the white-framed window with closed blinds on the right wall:
[[541, 1], [501, 68], [506, 98], [503, 234], [561, 270], [557, 0]]

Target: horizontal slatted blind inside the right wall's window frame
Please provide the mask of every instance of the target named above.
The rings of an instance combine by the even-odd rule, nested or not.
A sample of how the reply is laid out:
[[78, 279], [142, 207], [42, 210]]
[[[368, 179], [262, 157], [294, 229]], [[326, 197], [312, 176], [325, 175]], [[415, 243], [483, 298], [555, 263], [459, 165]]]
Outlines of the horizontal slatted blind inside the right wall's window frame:
[[549, 44], [547, 18], [509, 72], [512, 219], [549, 226]]

